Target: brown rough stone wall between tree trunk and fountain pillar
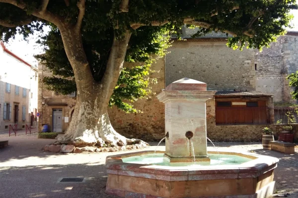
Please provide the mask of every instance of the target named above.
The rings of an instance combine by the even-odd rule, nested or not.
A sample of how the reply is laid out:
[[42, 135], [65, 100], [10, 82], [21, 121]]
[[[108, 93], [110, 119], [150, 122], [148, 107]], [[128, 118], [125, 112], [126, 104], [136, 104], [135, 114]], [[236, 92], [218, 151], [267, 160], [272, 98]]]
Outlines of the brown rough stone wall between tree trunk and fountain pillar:
[[156, 141], [164, 137], [164, 104], [156, 98], [164, 88], [164, 58], [153, 63], [151, 69], [157, 71], [150, 74], [150, 78], [157, 79], [157, 84], [150, 85], [152, 94], [148, 99], [139, 99], [133, 103], [143, 113], [125, 113], [117, 107], [108, 109], [114, 129], [127, 138]]

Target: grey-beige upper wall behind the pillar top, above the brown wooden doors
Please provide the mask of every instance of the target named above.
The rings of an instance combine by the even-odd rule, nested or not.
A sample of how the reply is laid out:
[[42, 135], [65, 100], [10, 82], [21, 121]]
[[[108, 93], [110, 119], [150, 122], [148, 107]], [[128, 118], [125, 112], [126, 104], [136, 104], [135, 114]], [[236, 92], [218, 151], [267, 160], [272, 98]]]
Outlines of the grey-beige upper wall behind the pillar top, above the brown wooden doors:
[[225, 39], [174, 41], [165, 56], [166, 86], [187, 77], [208, 90], [255, 89], [254, 51], [233, 50]]

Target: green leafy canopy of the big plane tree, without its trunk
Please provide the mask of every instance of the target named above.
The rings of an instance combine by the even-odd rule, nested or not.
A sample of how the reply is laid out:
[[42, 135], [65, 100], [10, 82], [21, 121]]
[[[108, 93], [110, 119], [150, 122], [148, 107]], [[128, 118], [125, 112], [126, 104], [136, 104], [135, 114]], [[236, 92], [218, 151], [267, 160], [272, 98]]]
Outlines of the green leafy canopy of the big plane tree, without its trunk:
[[[3, 41], [16, 33], [27, 37], [51, 26], [40, 40], [46, 53], [38, 58], [53, 72], [44, 79], [48, 88], [62, 94], [76, 90], [71, 65], [59, 26], [78, 27], [93, 80], [100, 83], [107, 67], [113, 39], [132, 37], [126, 62], [139, 66], [124, 68], [109, 101], [127, 112], [135, 112], [127, 101], [149, 92], [149, 66], [165, 54], [169, 33], [183, 24], [200, 26], [200, 32], [222, 31], [233, 35], [233, 49], [262, 49], [276, 41], [290, 26], [290, 9], [296, 0], [0, 0], [0, 36]], [[155, 55], [155, 56], [153, 56]]]

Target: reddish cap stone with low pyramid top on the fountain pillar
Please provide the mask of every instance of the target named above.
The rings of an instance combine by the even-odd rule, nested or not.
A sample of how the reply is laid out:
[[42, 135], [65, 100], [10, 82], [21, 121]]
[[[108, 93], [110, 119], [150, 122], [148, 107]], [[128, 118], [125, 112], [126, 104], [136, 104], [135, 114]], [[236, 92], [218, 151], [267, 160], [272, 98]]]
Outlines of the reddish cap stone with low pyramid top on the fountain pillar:
[[207, 91], [207, 84], [190, 78], [181, 78], [169, 84], [165, 90]]

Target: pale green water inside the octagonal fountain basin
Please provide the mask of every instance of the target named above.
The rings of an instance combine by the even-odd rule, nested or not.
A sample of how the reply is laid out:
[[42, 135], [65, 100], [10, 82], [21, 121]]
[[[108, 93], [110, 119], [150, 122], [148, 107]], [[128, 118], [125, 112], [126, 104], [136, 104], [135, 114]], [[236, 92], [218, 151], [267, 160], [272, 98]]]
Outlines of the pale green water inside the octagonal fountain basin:
[[161, 165], [161, 166], [210, 166], [210, 165], [236, 165], [248, 162], [252, 159], [247, 157], [241, 157], [238, 155], [229, 154], [209, 154], [210, 162], [168, 162], [164, 159], [163, 153], [132, 156], [122, 158], [125, 163], [134, 164], [150, 164], [150, 165]]

